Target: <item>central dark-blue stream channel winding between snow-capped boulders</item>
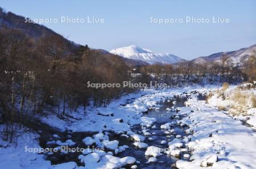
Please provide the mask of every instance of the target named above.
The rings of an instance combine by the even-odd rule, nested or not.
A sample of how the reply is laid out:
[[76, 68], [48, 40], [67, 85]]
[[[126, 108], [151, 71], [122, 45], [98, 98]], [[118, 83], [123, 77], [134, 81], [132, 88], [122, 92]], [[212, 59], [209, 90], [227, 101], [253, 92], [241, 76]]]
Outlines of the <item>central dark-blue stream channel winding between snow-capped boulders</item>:
[[[172, 134], [165, 134], [163, 129], [160, 129], [160, 125], [165, 124], [167, 122], [172, 122], [172, 121], [177, 121], [179, 119], [171, 119], [170, 117], [173, 116], [176, 113], [176, 108], [177, 107], [184, 107], [184, 102], [187, 100], [186, 96], [182, 97], [175, 97], [175, 99], [171, 99], [170, 102], [167, 102], [168, 99], [164, 100], [164, 102], [160, 102], [159, 104], [162, 106], [160, 107], [159, 110], [155, 109], [150, 109], [148, 113], [146, 113], [144, 116], [147, 117], [154, 117], [156, 119], [156, 122], [154, 123], [156, 125], [156, 128], [148, 130], [150, 133], [155, 133], [152, 136], [145, 136], [146, 140], [144, 143], [147, 143], [148, 146], [157, 146], [160, 148], [167, 148], [168, 147], [168, 142], [174, 140], [176, 138], [176, 135], [179, 134], [182, 137], [187, 136], [185, 133], [185, 130], [187, 129], [186, 127], [182, 127], [178, 124], [174, 125], [171, 127], [171, 129], [175, 129], [175, 133]], [[172, 104], [172, 102], [176, 101], [176, 104]], [[166, 108], [171, 108], [174, 107], [175, 112], [167, 112]], [[180, 119], [183, 117], [180, 116]], [[135, 125], [131, 129], [133, 132], [138, 133], [143, 135], [141, 132], [141, 126], [140, 125]], [[150, 141], [147, 138], [151, 137], [154, 140]], [[161, 144], [160, 142], [162, 140], [166, 140], [166, 144]], [[162, 153], [163, 155], [157, 157], [158, 161], [154, 163], [148, 163], [148, 158], [146, 155], [144, 155], [146, 149], [137, 149], [130, 143], [130, 148], [127, 149], [126, 151], [123, 151], [122, 153], [118, 154], [118, 157], [126, 157], [126, 156], [132, 156], [139, 160], [141, 164], [139, 165], [139, 168], [171, 168], [171, 165], [176, 162], [176, 160], [179, 160], [180, 158], [167, 155]], [[182, 157], [182, 154], [181, 156]]]

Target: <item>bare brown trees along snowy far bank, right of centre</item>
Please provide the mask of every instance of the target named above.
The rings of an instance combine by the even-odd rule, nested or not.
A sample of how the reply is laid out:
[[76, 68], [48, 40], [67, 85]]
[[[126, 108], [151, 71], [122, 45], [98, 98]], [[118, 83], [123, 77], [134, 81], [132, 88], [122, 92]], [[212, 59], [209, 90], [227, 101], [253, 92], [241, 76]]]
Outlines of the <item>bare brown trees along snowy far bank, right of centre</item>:
[[144, 74], [146, 79], [170, 86], [184, 86], [216, 83], [241, 83], [256, 81], [256, 52], [242, 63], [235, 65], [225, 54], [218, 61], [202, 64], [184, 61], [177, 64], [154, 64], [141, 66], [137, 73]]

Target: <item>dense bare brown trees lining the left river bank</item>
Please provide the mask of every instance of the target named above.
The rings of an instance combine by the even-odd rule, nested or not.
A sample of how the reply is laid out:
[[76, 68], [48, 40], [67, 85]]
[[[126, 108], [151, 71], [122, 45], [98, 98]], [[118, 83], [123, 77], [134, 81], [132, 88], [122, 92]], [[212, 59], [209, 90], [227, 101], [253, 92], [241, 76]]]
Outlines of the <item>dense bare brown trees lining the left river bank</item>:
[[65, 118], [78, 108], [105, 106], [129, 88], [88, 88], [87, 82], [122, 83], [129, 67], [119, 56], [88, 45], [74, 45], [60, 35], [34, 39], [14, 28], [0, 28], [0, 122], [7, 140], [14, 123], [26, 125], [34, 115]]

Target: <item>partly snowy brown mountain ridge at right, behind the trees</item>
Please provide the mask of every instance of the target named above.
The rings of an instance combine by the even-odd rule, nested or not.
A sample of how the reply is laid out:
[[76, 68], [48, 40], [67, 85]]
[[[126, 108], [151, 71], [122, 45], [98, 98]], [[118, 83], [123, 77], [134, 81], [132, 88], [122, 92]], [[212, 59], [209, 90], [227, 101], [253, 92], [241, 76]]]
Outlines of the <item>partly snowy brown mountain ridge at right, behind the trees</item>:
[[234, 65], [241, 65], [250, 55], [256, 53], [256, 45], [252, 45], [248, 48], [241, 48], [231, 52], [219, 52], [205, 57], [198, 57], [192, 60], [196, 64], [204, 64], [209, 61], [221, 62], [222, 56], [227, 56]]

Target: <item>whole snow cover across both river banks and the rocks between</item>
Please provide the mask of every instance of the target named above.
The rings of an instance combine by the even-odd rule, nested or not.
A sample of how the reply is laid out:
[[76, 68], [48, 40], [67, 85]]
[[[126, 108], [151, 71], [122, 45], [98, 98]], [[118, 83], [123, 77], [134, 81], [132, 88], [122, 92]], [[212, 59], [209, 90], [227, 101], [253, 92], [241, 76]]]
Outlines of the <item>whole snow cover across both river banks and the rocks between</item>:
[[[104, 150], [83, 151], [79, 155], [80, 162], [84, 166], [77, 166], [76, 162], [67, 162], [52, 165], [45, 160], [43, 154], [26, 152], [27, 148], [39, 148], [38, 133], [20, 133], [16, 144], [0, 141], [0, 166], [8, 168], [121, 168], [139, 167], [139, 161], [132, 157], [119, 158], [117, 154], [129, 149], [118, 140], [109, 137], [108, 132], [123, 133], [125, 137], [134, 142], [134, 146], [143, 149], [144, 154], [151, 157], [149, 163], [157, 163], [159, 156], [170, 154], [177, 156], [186, 152], [182, 160], [177, 160], [178, 168], [256, 168], [256, 134], [249, 127], [243, 125], [239, 118], [234, 119], [228, 112], [221, 111], [214, 104], [199, 100], [198, 92], [208, 94], [216, 91], [217, 87], [187, 87], [171, 88], [168, 90], [146, 90], [135, 94], [123, 96], [115, 100], [106, 108], [88, 108], [86, 113], [74, 113], [76, 119], [68, 121], [60, 120], [56, 116], [48, 116], [43, 122], [54, 126], [61, 131], [70, 132], [96, 132], [91, 137], [85, 137], [82, 142], [85, 145], [96, 145]], [[197, 92], [191, 92], [191, 91]], [[154, 145], [144, 143], [150, 137], [148, 129], [156, 126], [156, 119], [146, 117], [143, 112], [148, 109], [161, 109], [160, 101], [171, 99], [175, 95], [186, 92], [189, 99], [187, 107], [180, 107], [179, 112], [174, 112], [177, 124], [188, 126], [188, 136], [176, 135], [171, 141], [161, 141], [166, 145], [162, 150]], [[175, 103], [174, 103], [175, 104]], [[172, 108], [166, 109], [171, 112]], [[255, 115], [253, 108], [250, 116]], [[253, 114], [254, 113], [254, 114]], [[179, 118], [184, 117], [184, 118]], [[163, 117], [165, 118], [165, 117]], [[134, 133], [133, 125], [141, 125], [142, 133]], [[174, 132], [172, 123], [160, 126], [165, 133]], [[2, 129], [1, 129], [2, 130]], [[108, 131], [108, 132], [106, 132]], [[56, 138], [58, 136], [55, 136]], [[72, 138], [67, 141], [55, 141], [57, 145], [76, 145]], [[187, 159], [187, 160], [184, 160]]]

